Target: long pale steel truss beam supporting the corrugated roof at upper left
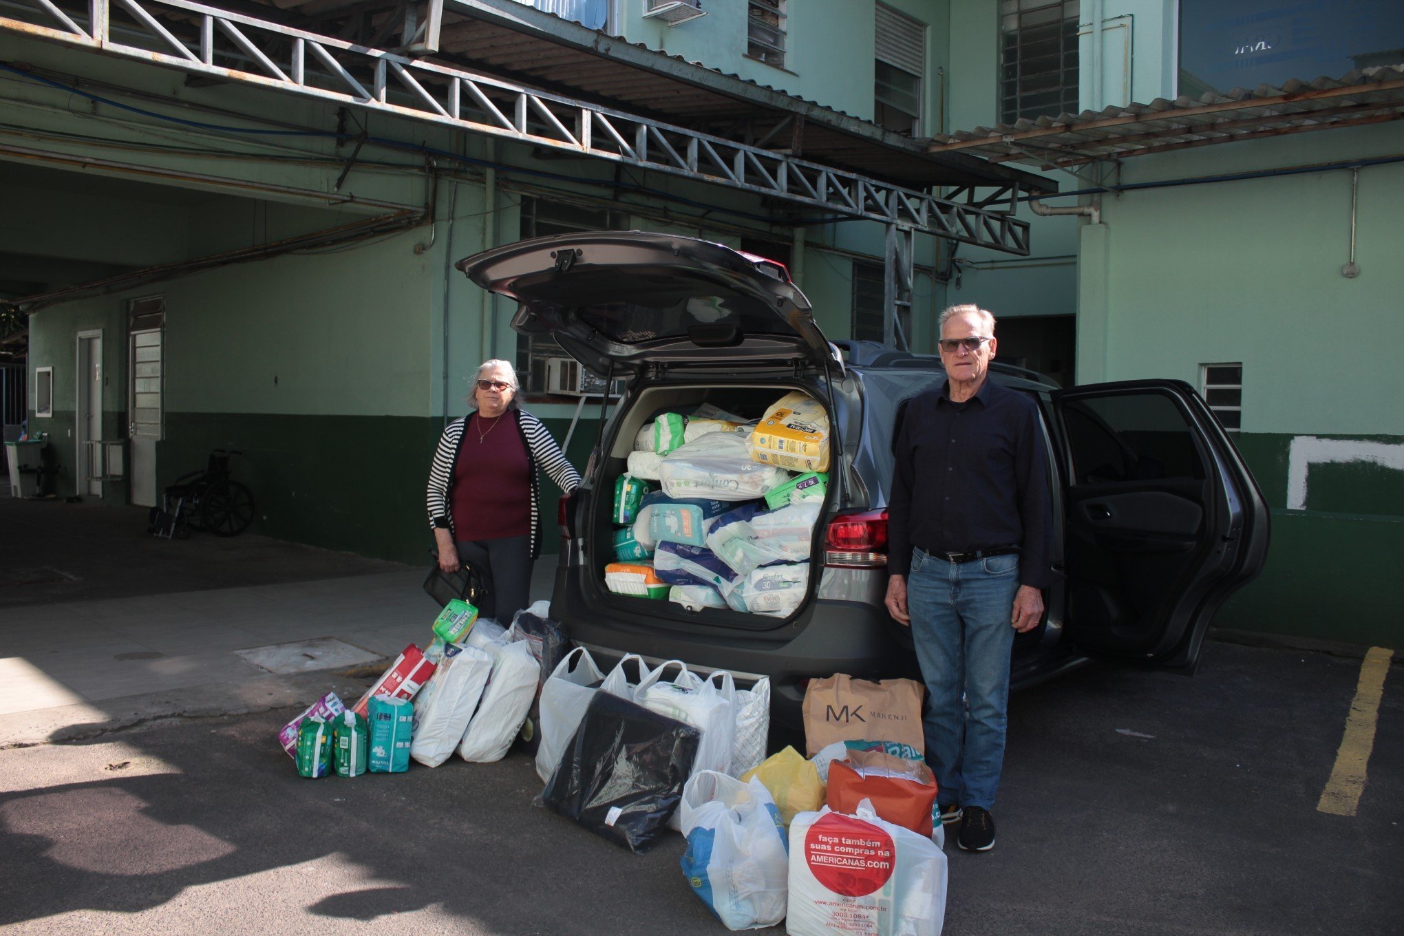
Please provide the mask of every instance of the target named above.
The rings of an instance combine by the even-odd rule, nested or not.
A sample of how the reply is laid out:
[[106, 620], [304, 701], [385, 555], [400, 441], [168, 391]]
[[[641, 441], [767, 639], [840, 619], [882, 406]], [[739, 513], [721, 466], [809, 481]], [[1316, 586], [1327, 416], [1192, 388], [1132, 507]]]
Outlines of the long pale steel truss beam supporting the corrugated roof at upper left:
[[7, 0], [4, 8], [29, 18], [0, 17], [0, 29], [667, 173], [1009, 254], [1029, 253], [1028, 222], [1011, 213], [199, 3]]

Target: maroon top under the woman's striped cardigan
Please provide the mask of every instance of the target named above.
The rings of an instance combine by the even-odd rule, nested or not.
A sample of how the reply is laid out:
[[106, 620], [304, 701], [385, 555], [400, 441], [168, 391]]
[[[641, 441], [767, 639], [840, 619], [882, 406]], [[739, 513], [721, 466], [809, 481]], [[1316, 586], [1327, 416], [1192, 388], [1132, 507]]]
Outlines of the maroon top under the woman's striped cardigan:
[[453, 464], [452, 509], [459, 540], [531, 536], [531, 462], [515, 410], [468, 418]]

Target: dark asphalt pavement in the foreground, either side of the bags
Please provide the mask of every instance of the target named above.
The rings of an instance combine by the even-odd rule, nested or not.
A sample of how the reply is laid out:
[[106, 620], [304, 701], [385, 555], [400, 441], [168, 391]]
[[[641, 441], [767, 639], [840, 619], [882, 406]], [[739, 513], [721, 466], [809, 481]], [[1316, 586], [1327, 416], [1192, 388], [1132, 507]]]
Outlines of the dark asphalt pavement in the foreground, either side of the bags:
[[[1359, 660], [1216, 643], [1193, 678], [1094, 665], [1015, 696], [998, 842], [948, 845], [945, 932], [1398, 933], [1398, 671], [1353, 817], [1316, 805]], [[0, 751], [0, 925], [724, 932], [680, 836], [636, 856], [534, 805], [524, 754], [307, 780], [275, 741], [292, 714]]]

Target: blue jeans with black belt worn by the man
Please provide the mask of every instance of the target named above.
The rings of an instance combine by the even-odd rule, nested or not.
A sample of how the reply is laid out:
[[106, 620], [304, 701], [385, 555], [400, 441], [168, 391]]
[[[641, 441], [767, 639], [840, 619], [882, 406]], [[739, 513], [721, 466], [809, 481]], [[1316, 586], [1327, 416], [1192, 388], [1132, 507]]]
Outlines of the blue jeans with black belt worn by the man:
[[1016, 553], [958, 564], [911, 551], [907, 610], [927, 682], [927, 761], [942, 804], [994, 805], [1018, 591]]

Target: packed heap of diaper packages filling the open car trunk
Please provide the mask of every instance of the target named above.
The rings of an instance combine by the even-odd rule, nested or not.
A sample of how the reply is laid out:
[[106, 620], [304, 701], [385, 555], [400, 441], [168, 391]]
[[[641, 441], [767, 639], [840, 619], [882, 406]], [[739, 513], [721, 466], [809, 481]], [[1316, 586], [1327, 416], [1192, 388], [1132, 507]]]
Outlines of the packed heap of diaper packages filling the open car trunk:
[[615, 481], [605, 585], [688, 610], [793, 613], [828, 480], [824, 407], [793, 392], [758, 422], [710, 404], [663, 413], [633, 448]]

